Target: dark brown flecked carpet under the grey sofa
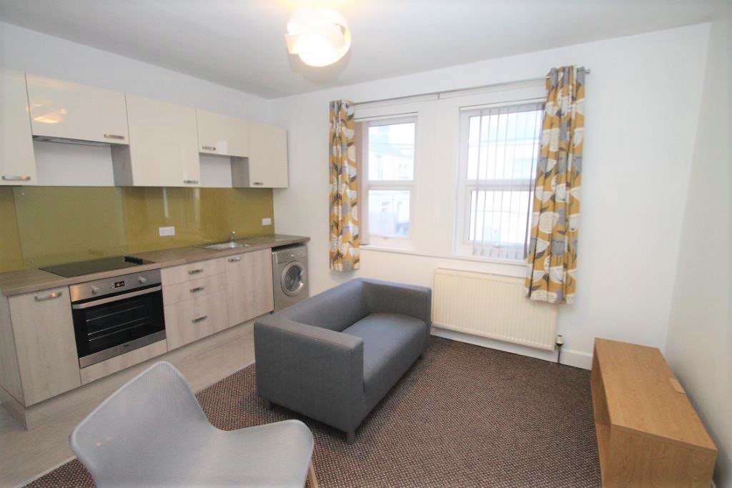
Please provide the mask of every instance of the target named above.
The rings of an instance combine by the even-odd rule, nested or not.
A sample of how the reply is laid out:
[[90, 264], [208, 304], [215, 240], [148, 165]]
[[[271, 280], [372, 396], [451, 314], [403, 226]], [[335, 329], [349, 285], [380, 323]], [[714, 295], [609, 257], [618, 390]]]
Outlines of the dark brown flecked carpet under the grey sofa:
[[[589, 372], [433, 337], [356, 431], [343, 435], [257, 397], [255, 365], [196, 396], [220, 429], [299, 418], [323, 487], [599, 487]], [[32, 487], [91, 487], [74, 460]]]

